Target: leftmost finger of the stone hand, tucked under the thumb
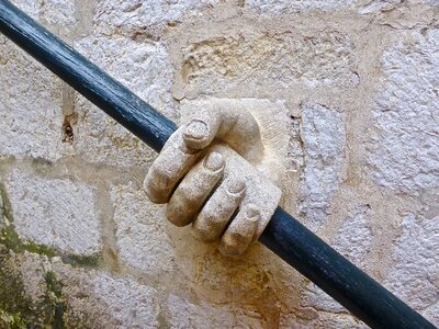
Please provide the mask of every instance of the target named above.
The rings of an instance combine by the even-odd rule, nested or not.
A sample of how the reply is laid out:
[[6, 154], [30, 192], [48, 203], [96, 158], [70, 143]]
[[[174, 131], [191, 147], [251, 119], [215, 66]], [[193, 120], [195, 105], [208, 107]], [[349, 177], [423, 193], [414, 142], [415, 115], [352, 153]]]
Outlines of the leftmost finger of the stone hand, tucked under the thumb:
[[160, 155], [149, 168], [144, 181], [144, 190], [150, 201], [167, 203], [177, 183], [195, 163], [201, 150], [189, 148], [179, 128], [165, 144]]

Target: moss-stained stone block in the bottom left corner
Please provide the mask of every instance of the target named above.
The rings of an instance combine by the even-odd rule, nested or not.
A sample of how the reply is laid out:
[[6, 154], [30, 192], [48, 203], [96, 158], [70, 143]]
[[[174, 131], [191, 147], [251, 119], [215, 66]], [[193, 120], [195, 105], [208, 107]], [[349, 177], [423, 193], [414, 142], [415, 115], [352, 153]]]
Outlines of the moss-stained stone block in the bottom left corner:
[[[157, 291], [128, 274], [74, 268], [58, 257], [48, 259], [31, 252], [1, 257], [7, 268], [2, 274], [8, 273], [19, 290], [8, 306], [20, 311], [18, 317], [23, 324], [52, 327], [57, 322], [67, 328], [97, 329], [159, 327]], [[14, 305], [16, 300], [22, 304]]]

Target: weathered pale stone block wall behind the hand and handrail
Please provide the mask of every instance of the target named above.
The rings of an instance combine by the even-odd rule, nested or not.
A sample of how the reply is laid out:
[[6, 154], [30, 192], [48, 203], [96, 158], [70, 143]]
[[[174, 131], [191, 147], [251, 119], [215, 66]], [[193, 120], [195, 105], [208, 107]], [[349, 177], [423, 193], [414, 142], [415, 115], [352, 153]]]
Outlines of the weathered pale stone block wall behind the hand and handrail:
[[[282, 206], [439, 326], [438, 0], [15, 0], [176, 122], [267, 102]], [[0, 36], [0, 327], [363, 328], [164, 219], [155, 152]], [[280, 147], [281, 147], [280, 146]]]

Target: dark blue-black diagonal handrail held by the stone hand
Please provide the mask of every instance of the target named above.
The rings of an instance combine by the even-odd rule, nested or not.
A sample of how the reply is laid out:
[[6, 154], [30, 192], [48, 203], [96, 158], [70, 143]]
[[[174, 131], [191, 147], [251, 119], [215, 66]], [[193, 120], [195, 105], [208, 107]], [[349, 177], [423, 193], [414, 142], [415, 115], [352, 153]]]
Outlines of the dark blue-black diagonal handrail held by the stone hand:
[[[0, 32], [160, 151], [176, 124], [7, 0]], [[372, 328], [435, 328], [291, 215], [278, 208], [260, 242]]]

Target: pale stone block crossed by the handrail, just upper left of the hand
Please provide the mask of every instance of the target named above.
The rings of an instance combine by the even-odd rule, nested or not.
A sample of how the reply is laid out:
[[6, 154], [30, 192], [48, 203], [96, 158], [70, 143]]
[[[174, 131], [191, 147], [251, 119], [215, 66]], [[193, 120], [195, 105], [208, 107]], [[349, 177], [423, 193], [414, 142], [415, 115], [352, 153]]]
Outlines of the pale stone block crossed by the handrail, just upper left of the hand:
[[[86, 37], [76, 48], [120, 82], [170, 118], [177, 104], [170, 95], [173, 68], [166, 48], [154, 42], [137, 43], [125, 37]], [[74, 147], [88, 161], [113, 166], [147, 164], [155, 156], [105, 113], [77, 95]]]

